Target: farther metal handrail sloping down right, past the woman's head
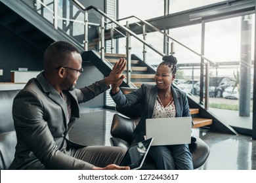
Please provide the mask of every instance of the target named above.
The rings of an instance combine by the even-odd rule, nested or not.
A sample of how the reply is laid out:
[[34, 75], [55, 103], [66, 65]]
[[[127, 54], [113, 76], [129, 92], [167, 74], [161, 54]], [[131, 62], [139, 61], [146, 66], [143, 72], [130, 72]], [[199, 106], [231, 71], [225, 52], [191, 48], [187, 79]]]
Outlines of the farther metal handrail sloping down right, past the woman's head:
[[[137, 18], [138, 20], [140, 20], [140, 22], [143, 22], [144, 24], [149, 25], [149, 26], [152, 27], [155, 31], [158, 31], [159, 33], [165, 35], [166, 37], [169, 37], [169, 39], [171, 39], [171, 40], [177, 42], [178, 44], [180, 44], [180, 45], [183, 46], [184, 48], [186, 48], [186, 49], [190, 50], [191, 52], [193, 52], [194, 54], [200, 56], [200, 58], [209, 61], [209, 63], [216, 64], [214, 61], [211, 61], [210, 59], [205, 58], [204, 56], [202, 56], [202, 54], [198, 54], [198, 52], [192, 50], [191, 48], [188, 48], [188, 46], [182, 44], [181, 42], [177, 41], [176, 39], [173, 39], [173, 38], [172, 38], [170, 35], [168, 35], [167, 33], [164, 33], [163, 31], [161, 31], [160, 29], [158, 29], [158, 28], [155, 27], [154, 25], [152, 25], [152, 24], [146, 22], [145, 20], [142, 20], [142, 19], [138, 18], [137, 16], [134, 16], [134, 15], [133, 15], [133, 16], [127, 16], [126, 18], [121, 18], [121, 19], [118, 19], [117, 21], [129, 19], [129, 18]], [[138, 23], [138, 24], [139, 24], [139, 23]]]

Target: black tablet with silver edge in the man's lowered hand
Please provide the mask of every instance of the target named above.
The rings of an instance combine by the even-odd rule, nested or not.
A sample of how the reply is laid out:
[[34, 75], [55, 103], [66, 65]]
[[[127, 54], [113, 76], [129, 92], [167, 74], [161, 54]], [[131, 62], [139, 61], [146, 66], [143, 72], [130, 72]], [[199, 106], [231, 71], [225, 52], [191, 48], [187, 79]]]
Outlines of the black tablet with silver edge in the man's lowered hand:
[[119, 166], [129, 166], [131, 170], [140, 169], [148, 154], [153, 138], [129, 146]]

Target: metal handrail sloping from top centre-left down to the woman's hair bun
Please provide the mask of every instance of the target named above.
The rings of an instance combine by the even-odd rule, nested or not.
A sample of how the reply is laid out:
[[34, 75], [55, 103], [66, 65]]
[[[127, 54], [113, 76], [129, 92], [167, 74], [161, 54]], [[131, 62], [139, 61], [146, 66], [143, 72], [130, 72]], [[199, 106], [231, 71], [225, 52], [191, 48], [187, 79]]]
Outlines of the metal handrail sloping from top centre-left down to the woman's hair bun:
[[127, 27], [119, 24], [116, 20], [110, 18], [106, 13], [102, 12], [102, 10], [99, 10], [98, 8], [95, 8], [93, 6], [89, 6], [87, 8], [85, 8], [83, 5], [81, 5], [81, 3], [79, 3], [77, 0], [73, 0], [75, 3], [77, 3], [77, 5], [79, 5], [79, 7], [81, 7], [83, 10], [87, 11], [87, 10], [91, 10], [94, 9], [97, 12], [99, 12], [100, 14], [102, 14], [102, 16], [108, 18], [109, 20], [111, 20], [112, 22], [114, 22], [115, 24], [117, 24], [119, 27], [121, 27], [121, 29], [123, 29], [124, 31], [126, 31], [127, 33], [129, 33], [130, 35], [133, 35], [133, 37], [135, 37], [136, 39], [138, 39], [140, 42], [143, 42], [144, 44], [146, 44], [146, 46], [148, 46], [149, 48], [151, 48], [152, 50], [154, 50], [155, 52], [157, 52], [158, 54], [160, 54], [160, 56], [165, 56], [165, 54], [163, 52], [161, 52], [160, 50], [154, 48], [151, 44], [148, 44], [148, 42], [144, 41], [143, 39], [140, 39], [135, 33], [133, 33], [133, 31], [131, 31], [130, 29], [128, 29]]

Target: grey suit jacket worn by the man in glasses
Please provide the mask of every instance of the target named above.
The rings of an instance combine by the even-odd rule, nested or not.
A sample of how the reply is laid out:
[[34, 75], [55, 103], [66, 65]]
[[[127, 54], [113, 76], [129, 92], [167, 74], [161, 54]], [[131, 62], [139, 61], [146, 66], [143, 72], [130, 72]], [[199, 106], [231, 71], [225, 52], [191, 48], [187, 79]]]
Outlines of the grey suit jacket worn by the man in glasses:
[[72, 114], [65, 101], [40, 73], [14, 98], [12, 116], [17, 135], [16, 153], [9, 169], [91, 169], [93, 165], [65, 154], [68, 124], [79, 118], [79, 103], [108, 90], [104, 80], [75, 89]]

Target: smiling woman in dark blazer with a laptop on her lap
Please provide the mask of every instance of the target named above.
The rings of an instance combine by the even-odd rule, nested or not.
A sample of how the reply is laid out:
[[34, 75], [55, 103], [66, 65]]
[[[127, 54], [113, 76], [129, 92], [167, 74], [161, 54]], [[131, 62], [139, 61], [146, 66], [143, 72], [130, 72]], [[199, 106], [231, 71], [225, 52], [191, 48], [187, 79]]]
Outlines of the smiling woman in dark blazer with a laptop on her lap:
[[[141, 104], [140, 122], [133, 132], [133, 143], [144, 139], [147, 118], [190, 116], [186, 93], [171, 85], [177, 71], [176, 63], [173, 56], [163, 57], [156, 71], [156, 85], [142, 84], [138, 90], [126, 95], [119, 90], [118, 84], [112, 85], [110, 95], [117, 105], [131, 107]], [[152, 146], [148, 156], [156, 161], [158, 169], [193, 169], [188, 144]]]

